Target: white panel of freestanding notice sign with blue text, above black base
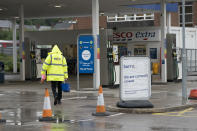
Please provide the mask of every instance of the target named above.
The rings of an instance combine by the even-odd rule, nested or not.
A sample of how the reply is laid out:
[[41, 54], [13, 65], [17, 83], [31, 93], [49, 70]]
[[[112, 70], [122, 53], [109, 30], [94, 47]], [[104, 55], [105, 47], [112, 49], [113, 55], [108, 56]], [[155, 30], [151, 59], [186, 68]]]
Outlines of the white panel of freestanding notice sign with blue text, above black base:
[[120, 99], [148, 100], [151, 96], [150, 59], [121, 57]]

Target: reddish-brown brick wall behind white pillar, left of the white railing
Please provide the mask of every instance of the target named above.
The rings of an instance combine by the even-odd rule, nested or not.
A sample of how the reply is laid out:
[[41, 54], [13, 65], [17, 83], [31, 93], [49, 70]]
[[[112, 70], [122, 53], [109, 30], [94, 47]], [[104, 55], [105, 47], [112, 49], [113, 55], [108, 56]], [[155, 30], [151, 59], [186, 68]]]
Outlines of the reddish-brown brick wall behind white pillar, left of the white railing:
[[[78, 17], [77, 24], [74, 24], [74, 29], [92, 29], [92, 17]], [[100, 16], [99, 18], [99, 27], [107, 27], [107, 17]]]

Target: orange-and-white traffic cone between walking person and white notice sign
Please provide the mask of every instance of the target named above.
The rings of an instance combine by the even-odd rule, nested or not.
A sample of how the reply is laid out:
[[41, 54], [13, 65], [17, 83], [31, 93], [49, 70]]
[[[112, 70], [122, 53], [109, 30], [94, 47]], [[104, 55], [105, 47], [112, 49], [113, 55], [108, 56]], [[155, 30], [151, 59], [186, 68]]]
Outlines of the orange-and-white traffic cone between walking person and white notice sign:
[[102, 86], [99, 87], [99, 92], [98, 93], [99, 94], [98, 94], [96, 112], [92, 113], [92, 115], [93, 116], [108, 116], [109, 113], [107, 113], [106, 110], [105, 110]]

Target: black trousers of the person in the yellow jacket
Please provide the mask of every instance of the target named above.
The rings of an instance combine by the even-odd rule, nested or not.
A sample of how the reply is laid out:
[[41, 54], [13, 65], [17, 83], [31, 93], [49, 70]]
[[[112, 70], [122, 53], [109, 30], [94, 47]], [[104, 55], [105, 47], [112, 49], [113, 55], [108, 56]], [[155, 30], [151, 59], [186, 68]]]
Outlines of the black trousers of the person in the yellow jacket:
[[[58, 100], [62, 99], [62, 82], [61, 81], [51, 81], [51, 89], [53, 91], [54, 99], [57, 97]], [[58, 88], [58, 93], [56, 92], [56, 88]]]

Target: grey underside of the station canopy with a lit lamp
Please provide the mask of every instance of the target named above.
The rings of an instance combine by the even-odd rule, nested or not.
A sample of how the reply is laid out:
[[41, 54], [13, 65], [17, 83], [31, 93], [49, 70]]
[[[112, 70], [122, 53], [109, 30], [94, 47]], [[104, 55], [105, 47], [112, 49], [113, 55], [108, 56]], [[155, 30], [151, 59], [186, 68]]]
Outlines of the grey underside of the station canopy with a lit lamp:
[[[150, 11], [131, 8], [131, 5], [155, 4], [161, 0], [99, 0], [99, 10], [105, 15]], [[181, 0], [165, 0], [167, 3]], [[196, 1], [196, 0], [185, 0]], [[92, 0], [0, 0], [0, 19], [19, 16], [20, 5], [24, 6], [25, 18], [55, 18], [92, 15]]]

